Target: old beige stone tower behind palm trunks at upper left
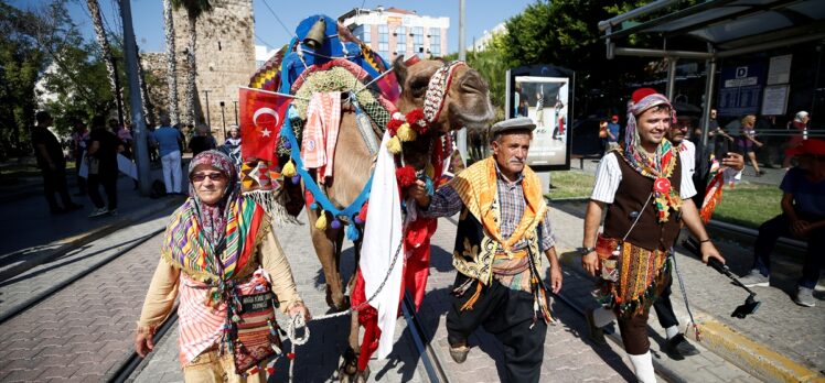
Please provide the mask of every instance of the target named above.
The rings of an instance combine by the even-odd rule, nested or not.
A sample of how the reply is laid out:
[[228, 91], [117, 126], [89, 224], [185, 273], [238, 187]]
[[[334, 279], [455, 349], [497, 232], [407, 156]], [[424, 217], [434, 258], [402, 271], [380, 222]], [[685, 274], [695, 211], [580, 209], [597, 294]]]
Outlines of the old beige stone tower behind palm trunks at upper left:
[[[255, 73], [253, 0], [219, 0], [214, 9], [197, 19], [195, 59], [197, 65], [195, 105], [197, 123], [206, 123], [221, 144], [224, 123], [235, 123], [238, 86], [247, 86]], [[186, 110], [186, 56], [189, 20], [181, 8], [174, 12], [178, 95], [182, 123], [189, 123]], [[207, 96], [208, 95], [208, 96]], [[208, 102], [207, 102], [208, 97]], [[222, 118], [221, 102], [224, 103]], [[207, 121], [208, 116], [208, 121]]]

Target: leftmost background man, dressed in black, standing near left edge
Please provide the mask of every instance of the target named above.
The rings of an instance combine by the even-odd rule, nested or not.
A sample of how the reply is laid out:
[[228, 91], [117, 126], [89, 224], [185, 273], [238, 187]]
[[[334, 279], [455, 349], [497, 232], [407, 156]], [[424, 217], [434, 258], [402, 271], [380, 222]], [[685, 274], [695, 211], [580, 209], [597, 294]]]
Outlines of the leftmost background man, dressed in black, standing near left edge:
[[[32, 129], [32, 146], [34, 156], [38, 158], [38, 167], [43, 176], [43, 192], [49, 203], [49, 212], [60, 215], [83, 208], [72, 201], [68, 195], [68, 185], [66, 184], [66, 157], [63, 156], [63, 149], [60, 141], [49, 131], [49, 127], [54, 123], [52, 114], [47, 111], [39, 111], [34, 119], [38, 125]], [[54, 195], [61, 196], [61, 203]]]

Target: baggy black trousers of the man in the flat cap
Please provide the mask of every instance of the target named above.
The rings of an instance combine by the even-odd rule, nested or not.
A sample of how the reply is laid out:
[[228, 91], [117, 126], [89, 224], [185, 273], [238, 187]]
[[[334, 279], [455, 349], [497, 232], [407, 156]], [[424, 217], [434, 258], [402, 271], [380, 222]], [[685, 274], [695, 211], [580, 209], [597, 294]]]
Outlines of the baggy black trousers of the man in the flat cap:
[[[468, 276], [459, 273], [456, 286], [467, 280]], [[476, 282], [473, 281], [473, 284]], [[484, 330], [504, 344], [507, 373], [505, 381], [538, 382], [547, 324], [540, 316], [533, 321], [533, 295], [510, 289], [493, 280], [490, 286], [482, 287], [473, 308], [461, 311], [461, 306], [473, 295], [475, 288], [478, 286], [452, 299], [452, 307], [447, 313], [447, 339], [450, 344], [465, 344], [470, 335], [479, 326], [484, 326]]]

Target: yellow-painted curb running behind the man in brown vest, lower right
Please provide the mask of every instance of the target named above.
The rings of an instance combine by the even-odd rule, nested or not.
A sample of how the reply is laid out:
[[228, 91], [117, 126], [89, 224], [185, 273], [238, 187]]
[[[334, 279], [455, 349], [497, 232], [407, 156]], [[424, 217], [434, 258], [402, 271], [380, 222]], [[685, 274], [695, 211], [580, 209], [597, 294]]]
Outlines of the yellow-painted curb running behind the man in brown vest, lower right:
[[[570, 250], [559, 251], [559, 262], [565, 266], [571, 266], [574, 272], [580, 273], [578, 269], [575, 269], [579, 259], [577, 254], [577, 252]], [[693, 311], [701, 329], [701, 340], [696, 339], [695, 331], [692, 331], [693, 327], [689, 324], [687, 330], [685, 330], [685, 336], [754, 377], [768, 382], [825, 383], [825, 377], [819, 372], [785, 358], [769, 347], [717, 321], [707, 313], [695, 307]], [[619, 344], [621, 344], [621, 340], [619, 340]], [[669, 371], [656, 363], [655, 359], [653, 363], [657, 372], [671, 375]], [[666, 377], [673, 382], [683, 381], [678, 376]]]

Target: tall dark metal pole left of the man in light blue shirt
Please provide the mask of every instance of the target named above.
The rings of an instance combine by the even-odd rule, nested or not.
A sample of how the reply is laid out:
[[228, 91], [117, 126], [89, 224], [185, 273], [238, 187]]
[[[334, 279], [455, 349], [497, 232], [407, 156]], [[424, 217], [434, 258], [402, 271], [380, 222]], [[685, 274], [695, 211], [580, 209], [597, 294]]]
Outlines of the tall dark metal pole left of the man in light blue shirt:
[[140, 98], [140, 81], [138, 80], [138, 47], [135, 42], [135, 30], [131, 25], [130, 0], [120, 0], [120, 17], [124, 21], [124, 57], [126, 61], [126, 76], [129, 79], [129, 102], [131, 103], [131, 122], [135, 129], [135, 144], [137, 149], [138, 180], [140, 194], [149, 195], [149, 151], [147, 145], [148, 131], [143, 119], [143, 106]]

